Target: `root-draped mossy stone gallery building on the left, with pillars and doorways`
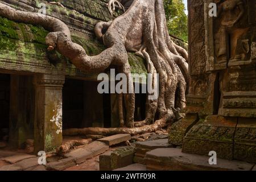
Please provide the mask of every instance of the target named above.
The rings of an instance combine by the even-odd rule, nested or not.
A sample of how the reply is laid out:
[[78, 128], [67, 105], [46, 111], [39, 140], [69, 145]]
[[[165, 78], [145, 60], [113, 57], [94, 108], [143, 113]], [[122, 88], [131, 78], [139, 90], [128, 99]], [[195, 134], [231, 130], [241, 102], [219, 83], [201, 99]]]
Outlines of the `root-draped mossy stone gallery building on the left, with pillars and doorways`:
[[[47, 3], [1, 2], [35, 13], [42, 8], [40, 3]], [[104, 50], [94, 26], [118, 14], [112, 17], [101, 0], [63, 1], [63, 5], [47, 3], [46, 13], [67, 24], [73, 42], [88, 55]], [[62, 142], [62, 128], [119, 126], [117, 95], [97, 92], [98, 73], [81, 72], [59, 53], [47, 53], [47, 34], [40, 26], [0, 17], [0, 140], [9, 137], [14, 148], [34, 139], [35, 152], [52, 151]], [[129, 63], [132, 73], [147, 72], [144, 60], [134, 53], [129, 53]], [[134, 76], [134, 82], [145, 81]], [[146, 94], [138, 94], [135, 120], [144, 117], [145, 98]]]

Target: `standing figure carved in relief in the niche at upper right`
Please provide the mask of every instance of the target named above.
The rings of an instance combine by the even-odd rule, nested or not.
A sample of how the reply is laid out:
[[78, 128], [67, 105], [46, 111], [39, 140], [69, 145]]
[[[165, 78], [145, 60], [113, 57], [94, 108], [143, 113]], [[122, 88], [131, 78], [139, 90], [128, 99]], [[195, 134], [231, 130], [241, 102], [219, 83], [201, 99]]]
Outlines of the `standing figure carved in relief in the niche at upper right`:
[[[225, 69], [226, 65], [250, 63], [249, 24], [251, 12], [243, 0], [217, 1], [217, 17], [213, 20], [216, 63]], [[237, 64], [236, 64], [237, 62]]]

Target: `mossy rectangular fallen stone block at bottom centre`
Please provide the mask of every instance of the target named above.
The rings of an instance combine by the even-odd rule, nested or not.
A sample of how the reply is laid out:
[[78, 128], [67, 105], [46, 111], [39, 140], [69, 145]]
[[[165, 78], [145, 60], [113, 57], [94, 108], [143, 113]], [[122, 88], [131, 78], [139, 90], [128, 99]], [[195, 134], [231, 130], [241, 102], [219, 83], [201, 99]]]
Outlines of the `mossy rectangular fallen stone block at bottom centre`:
[[113, 169], [133, 164], [135, 146], [119, 147], [114, 151], [100, 156], [100, 170], [110, 171]]

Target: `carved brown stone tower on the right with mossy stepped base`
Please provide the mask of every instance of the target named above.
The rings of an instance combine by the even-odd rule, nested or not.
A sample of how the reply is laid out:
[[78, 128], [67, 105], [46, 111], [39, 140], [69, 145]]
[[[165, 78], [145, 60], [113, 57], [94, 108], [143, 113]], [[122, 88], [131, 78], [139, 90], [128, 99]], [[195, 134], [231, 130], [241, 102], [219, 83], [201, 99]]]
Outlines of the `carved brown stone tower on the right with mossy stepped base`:
[[171, 126], [169, 142], [256, 162], [256, 1], [189, 0], [188, 11], [187, 115]]

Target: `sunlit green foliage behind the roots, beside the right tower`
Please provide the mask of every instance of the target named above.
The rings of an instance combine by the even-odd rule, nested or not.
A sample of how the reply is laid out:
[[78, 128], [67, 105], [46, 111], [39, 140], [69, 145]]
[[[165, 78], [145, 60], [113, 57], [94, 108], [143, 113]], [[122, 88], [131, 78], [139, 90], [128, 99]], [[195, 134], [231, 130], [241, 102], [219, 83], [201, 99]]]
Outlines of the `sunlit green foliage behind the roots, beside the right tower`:
[[163, 0], [168, 31], [171, 35], [188, 41], [188, 16], [182, 0]]

